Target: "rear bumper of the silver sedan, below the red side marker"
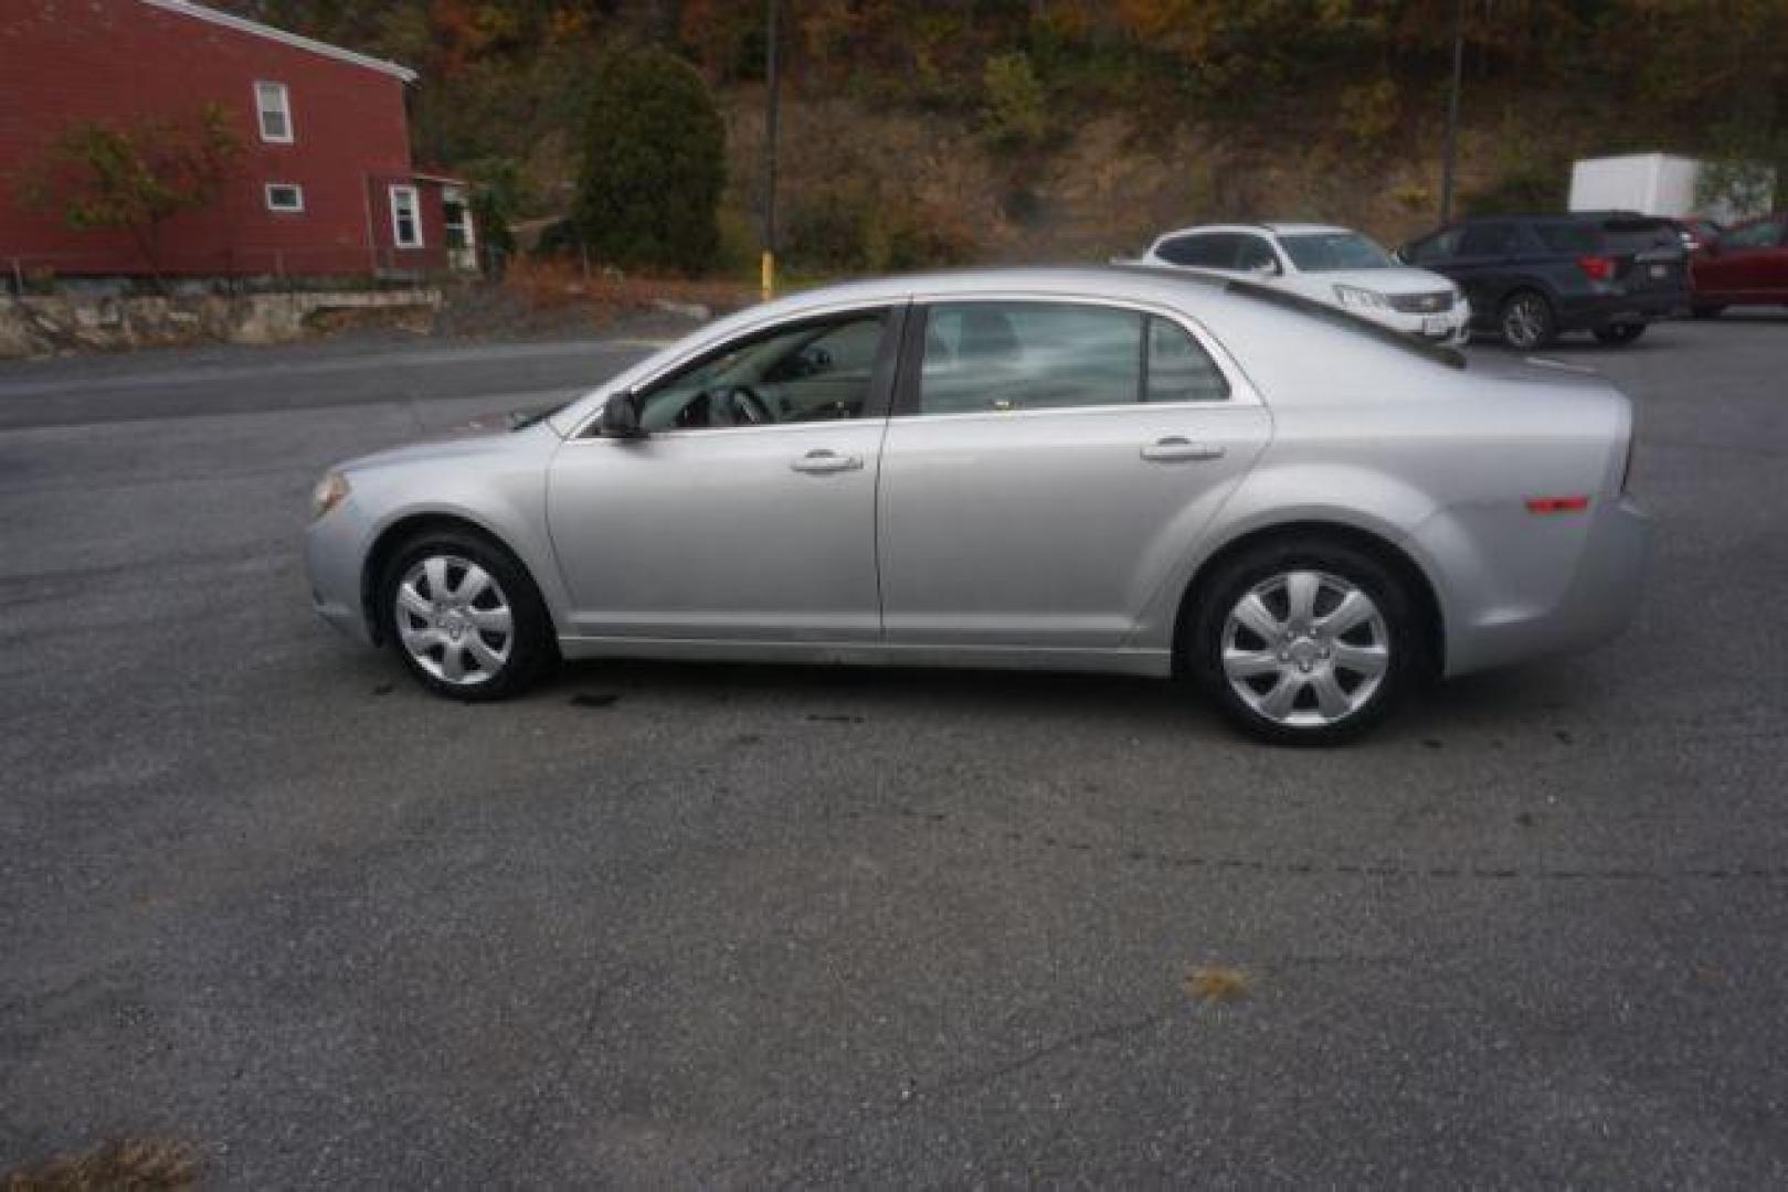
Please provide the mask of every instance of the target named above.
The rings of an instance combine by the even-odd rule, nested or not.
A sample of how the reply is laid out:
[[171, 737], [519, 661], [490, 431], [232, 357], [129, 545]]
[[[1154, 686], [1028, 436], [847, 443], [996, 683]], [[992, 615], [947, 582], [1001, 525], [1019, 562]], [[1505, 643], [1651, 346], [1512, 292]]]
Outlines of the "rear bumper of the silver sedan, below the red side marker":
[[1448, 625], [1446, 674], [1586, 651], [1632, 622], [1650, 561], [1652, 516], [1625, 495], [1591, 516], [1575, 572], [1556, 600]]

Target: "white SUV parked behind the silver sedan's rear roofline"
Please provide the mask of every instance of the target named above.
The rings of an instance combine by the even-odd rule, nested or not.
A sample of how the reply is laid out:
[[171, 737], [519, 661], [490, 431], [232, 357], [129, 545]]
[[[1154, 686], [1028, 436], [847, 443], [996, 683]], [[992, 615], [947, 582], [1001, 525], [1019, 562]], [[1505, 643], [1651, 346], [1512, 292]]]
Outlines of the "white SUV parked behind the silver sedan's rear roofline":
[[1246, 277], [1446, 347], [1464, 343], [1472, 322], [1459, 286], [1439, 273], [1398, 264], [1375, 239], [1346, 227], [1182, 227], [1150, 245], [1141, 263]]

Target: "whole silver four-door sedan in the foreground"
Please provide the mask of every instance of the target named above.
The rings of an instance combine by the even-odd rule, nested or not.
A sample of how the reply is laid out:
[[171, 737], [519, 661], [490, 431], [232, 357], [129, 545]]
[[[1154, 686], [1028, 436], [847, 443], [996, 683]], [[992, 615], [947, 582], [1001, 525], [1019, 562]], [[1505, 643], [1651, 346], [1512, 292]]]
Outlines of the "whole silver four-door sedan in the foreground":
[[[1509, 370], [1504, 370], [1505, 374]], [[1618, 633], [1632, 407], [1244, 281], [815, 290], [316, 486], [316, 611], [429, 690], [556, 658], [1184, 674], [1282, 743]]]

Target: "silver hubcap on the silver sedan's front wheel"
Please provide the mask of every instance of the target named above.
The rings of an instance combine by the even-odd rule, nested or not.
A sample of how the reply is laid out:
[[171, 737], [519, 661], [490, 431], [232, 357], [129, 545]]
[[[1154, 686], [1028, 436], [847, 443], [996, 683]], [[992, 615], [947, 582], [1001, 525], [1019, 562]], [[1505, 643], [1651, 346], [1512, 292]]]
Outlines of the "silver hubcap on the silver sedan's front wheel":
[[515, 617], [490, 572], [454, 554], [434, 554], [397, 584], [397, 636], [409, 658], [442, 683], [476, 686], [510, 661]]

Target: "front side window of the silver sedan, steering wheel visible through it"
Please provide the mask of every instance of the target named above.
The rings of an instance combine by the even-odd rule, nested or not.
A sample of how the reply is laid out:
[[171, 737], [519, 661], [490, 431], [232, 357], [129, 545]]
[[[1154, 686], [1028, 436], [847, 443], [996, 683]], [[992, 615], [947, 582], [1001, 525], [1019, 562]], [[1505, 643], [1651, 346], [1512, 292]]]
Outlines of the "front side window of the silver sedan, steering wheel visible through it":
[[862, 418], [887, 311], [735, 340], [640, 393], [645, 431]]

